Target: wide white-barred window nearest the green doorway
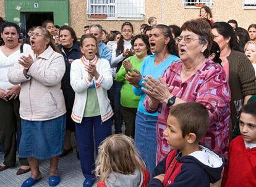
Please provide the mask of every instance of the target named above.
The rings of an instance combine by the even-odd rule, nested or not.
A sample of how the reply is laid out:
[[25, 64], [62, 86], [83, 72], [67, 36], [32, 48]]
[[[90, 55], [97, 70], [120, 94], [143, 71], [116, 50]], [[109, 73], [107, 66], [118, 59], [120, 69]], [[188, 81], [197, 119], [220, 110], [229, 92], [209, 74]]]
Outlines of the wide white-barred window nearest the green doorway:
[[87, 0], [88, 19], [143, 20], [145, 0]]

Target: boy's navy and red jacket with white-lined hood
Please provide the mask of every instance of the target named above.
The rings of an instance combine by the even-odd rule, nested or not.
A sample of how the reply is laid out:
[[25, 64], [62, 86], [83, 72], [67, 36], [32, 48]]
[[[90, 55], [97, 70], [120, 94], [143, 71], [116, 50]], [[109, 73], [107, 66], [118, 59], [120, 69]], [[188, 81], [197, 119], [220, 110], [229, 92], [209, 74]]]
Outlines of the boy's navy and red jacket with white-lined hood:
[[[221, 179], [224, 159], [211, 149], [200, 145], [200, 151], [181, 156], [172, 150], [153, 170], [148, 187], [205, 187]], [[164, 181], [153, 178], [165, 174]]]

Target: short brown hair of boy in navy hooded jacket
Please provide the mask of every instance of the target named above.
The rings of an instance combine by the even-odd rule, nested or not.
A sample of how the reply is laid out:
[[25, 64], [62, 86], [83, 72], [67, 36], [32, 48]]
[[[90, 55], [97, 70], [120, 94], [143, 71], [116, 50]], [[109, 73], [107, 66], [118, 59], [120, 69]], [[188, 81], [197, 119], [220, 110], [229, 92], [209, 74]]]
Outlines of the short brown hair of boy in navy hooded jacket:
[[195, 133], [200, 141], [207, 133], [210, 119], [208, 109], [200, 103], [181, 103], [171, 107], [169, 115], [176, 117], [184, 138], [189, 133]]

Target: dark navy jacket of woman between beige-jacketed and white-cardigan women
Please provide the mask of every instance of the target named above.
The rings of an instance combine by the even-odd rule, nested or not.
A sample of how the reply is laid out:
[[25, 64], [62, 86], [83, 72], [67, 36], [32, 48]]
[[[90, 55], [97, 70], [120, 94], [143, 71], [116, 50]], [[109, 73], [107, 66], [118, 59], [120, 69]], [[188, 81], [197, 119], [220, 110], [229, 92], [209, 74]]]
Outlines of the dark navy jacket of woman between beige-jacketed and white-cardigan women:
[[61, 89], [65, 98], [66, 108], [72, 109], [75, 100], [75, 92], [70, 85], [70, 67], [72, 61], [79, 59], [82, 54], [80, 52], [79, 42], [75, 42], [72, 49], [70, 49], [67, 54], [61, 45], [59, 45], [59, 49], [61, 50], [66, 64], [66, 71], [61, 81]]

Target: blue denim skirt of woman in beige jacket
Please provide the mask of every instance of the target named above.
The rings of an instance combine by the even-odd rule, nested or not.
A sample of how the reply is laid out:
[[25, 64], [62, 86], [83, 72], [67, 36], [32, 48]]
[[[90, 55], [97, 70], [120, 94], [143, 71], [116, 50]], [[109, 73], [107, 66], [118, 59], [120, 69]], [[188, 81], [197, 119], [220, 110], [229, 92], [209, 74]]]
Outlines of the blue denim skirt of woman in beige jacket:
[[48, 121], [22, 119], [19, 157], [49, 159], [64, 149], [66, 114]]

